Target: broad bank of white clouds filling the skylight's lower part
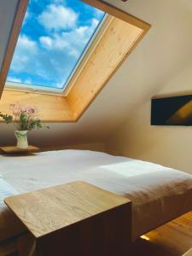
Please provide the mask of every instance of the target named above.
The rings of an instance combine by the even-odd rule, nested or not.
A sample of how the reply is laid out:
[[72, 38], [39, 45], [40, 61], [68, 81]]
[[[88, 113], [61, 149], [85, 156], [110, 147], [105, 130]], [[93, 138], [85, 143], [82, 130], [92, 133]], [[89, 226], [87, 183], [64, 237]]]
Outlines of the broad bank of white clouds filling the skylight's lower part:
[[94, 18], [67, 31], [47, 30], [37, 41], [21, 34], [9, 73], [12, 81], [61, 88], [98, 22]]

